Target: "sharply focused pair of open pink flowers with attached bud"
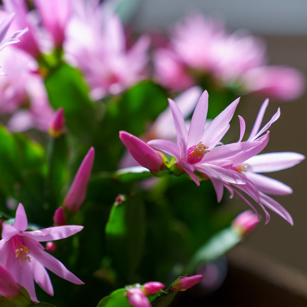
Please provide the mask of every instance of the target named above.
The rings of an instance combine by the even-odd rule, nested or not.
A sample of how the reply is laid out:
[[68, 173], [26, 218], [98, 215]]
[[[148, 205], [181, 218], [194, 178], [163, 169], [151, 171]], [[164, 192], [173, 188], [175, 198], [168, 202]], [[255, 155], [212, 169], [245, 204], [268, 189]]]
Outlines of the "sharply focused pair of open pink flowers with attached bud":
[[[271, 120], [260, 129], [269, 103], [265, 100], [247, 141], [242, 141], [245, 134], [245, 121], [239, 116], [239, 140], [236, 143], [223, 144], [221, 140], [230, 127], [229, 122], [239, 99], [233, 101], [215, 119], [206, 123], [208, 93], [205, 91], [195, 107], [188, 130], [179, 106], [171, 99], [168, 101], [177, 132], [177, 144], [161, 139], [145, 143], [126, 131], [120, 131], [120, 139], [140, 165], [158, 176], [163, 171], [174, 174], [187, 173], [197, 185], [200, 185], [200, 180], [209, 179], [215, 189], [218, 202], [223, 198], [225, 187], [231, 193], [231, 197], [234, 193], [238, 194], [255, 210], [245, 196], [238, 191], [241, 190], [264, 210], [266, 223], [269, 222], [270, 215], [265, 207], [293, 225], [289, 212], [267, 195], [290, 194], [291, 187], [259, 174], [286, 169], [304, 159], [304, 156], [297, 152], [271, 152], [257, 155], [268, 144], [268, 128], [279, 118], [279, 108]], [[173, 157], [174, 161], [168, 162], [160, 150]]]

